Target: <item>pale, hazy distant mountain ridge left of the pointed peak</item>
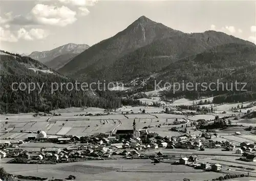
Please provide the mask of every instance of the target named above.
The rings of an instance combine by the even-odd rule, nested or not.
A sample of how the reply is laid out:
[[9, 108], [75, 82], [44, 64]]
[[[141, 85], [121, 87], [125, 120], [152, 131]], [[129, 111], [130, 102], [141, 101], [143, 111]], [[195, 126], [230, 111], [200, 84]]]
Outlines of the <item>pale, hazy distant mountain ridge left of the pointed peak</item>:
[[65, 54], [80, 54], [90, 46], [87, 44], [68, 43], [48, 51], [33, 51], [28, 57], [45, 63]]

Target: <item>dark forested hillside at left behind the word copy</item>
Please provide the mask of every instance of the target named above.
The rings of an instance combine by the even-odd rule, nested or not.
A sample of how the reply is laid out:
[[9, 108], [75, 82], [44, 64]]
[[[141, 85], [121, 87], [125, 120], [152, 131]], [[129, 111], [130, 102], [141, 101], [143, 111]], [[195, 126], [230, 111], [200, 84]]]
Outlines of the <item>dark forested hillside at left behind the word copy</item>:
[[[29, 57], [5, 53], [0, 55], [0, 66], [0, 111], [2, 113], [50, 111], [56, 108], [82, 106], [99, 108], [121, 106], [120, 99], [113, 97], [110, 92], [83, 91], [66, 86], [61, 90], [61, 83], [71, 82], [75, 85], [75, 81]], [[27, 89], [13, 90], [13, 83], [22, 83], [22, 89], [25, 83]], [[28, 91], [29, 83], [35, 83], [35, 89], [33, 90], [31, 85], [30, 92]], [[18, 88], [17, 84], [13, 86], [14, 89]], [[59, 89], [56, 89], [57, 85]]]

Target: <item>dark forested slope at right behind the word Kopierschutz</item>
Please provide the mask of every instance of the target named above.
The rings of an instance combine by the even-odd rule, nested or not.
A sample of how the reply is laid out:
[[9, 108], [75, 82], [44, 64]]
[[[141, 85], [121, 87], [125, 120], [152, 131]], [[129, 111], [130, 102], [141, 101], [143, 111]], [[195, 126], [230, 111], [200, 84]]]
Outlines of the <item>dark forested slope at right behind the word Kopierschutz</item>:
[[[153, 89], [155, 81], [164, 83], [207, 83], [207, 90], [199, 85], [194, 91], [173, 90], [165, 92], [169, 97], [185, 95], [190, 98], [198, 96], [216, 96], [215, 102], [233, 102], [256, 99], [256, 46], [230, 43], [220, 45], [201, 54], [181, 59], [159, 70], [154, 79], [148, 81], [148, 89]], [[238, 83], [235, 87], [236, 81]], [[217, 85], [217, 82], [223, 83]], [[211, 90], [209, 89], [209, 84]], [[243, 88], [243, 85], [246, 86]], [[232, 89], [231, 89], [232, 88]], [[243, 88], [243, 90], [242, 90]], [[244, 91], [247, 90], [247, 91]]]

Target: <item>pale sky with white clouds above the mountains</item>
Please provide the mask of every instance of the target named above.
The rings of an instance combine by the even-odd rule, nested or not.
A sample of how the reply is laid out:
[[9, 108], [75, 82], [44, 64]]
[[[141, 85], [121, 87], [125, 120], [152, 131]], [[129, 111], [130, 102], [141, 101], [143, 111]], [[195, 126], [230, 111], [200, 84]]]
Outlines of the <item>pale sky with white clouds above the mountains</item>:
[[185, 33], [215, 30], [256, 44], [256, 1], [0, 1], [0, 49], [20, 54], [92, 46], [142, 15]]

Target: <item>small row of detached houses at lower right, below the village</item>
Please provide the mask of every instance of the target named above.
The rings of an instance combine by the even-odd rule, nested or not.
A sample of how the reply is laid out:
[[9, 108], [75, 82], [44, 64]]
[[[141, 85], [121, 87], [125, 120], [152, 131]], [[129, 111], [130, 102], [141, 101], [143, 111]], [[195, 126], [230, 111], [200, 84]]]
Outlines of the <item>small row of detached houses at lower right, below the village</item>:
[[221, 171], [222, 166], [220, 164], [210, 164], [210, 163], [197, 163], [199, 159], [197, 157], [190, 156], [189, 158], [180, 158], [179, 164], [189, 165], [203, 170], [211, 170], [215, 172]]

